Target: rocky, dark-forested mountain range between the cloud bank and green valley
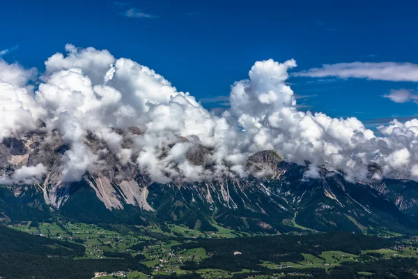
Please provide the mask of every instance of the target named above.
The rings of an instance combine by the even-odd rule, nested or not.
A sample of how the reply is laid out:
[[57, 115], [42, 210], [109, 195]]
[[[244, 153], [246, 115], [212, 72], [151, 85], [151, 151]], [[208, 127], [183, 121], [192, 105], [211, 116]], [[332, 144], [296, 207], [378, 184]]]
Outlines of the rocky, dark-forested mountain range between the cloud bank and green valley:
[[[114, 129], [129, 148], [141, 135], [137, 127]], [[178, 141], [188, 141], [178, 137]], [[0, 144], [0, 174], [22, 166], [47, 167], [34, 183], [6, 184], [0, 188], [0, 218], [6, 222], [43, 220], [63, 216], [85, 223], [183, 224], [201, 231], [218, 226], [242, 232], [352, 231], [396, 235], [418, 231], [418, 183], [382, 179], [347, 181], [343, 173], [320, 169], [307, 178], [308, 167], [281, 160], [275, 151], [258, 151], [247, 160], [245, 178], [224, 177], [190, 183], [155, 183], [114, 153], [100, 152], [106, 144], [88, 134], [84, 140], [102, 167], [81, 181], [61, 181], [63, 154], [68, 151], [57, 131], [42, 130], [9, 137]], [[211, 150], [194, 144], [187, 160], [210, 168]], [[164, 156], [164, 155], [163, 155]], [[369, 165], [369, 177], [380, 172]]]

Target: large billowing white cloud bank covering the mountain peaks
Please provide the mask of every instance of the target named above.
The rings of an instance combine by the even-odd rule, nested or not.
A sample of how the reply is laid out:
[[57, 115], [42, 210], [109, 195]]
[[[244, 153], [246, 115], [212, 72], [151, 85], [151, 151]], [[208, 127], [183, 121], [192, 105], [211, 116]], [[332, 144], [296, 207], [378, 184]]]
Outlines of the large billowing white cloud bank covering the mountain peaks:
[[[36, 70], [0, 61], [0, 117], [5, 119], [0, 139], [40, 126], [46, 133], [58, 131], [68, 145], [63, 182], [107, 167], [100, 156], [108, 152], [160, 183], [244, 177], [247, 158], [265, 149], [288, 162], [309, 164], [307, 177], [318, 177], [323, 167], [349, 181], [367, 181], [369, 165], [376, 163], [380, 170], [373, 179], [418, 181], [417, 119], [380, 126], [378, 137], [355, 117], [301, 112], [286, 84], [288, 70], [297, 66], [293, 59], [254, 63], [248, 79], [233, 83], [231, 107], [221, 115], [154, 70], [107, 50], [66, 45], [65, 54], [54, 54], [45, 66], [33, 89], [28, 84]], [[132, 126], [138, 130], [127, 145], [118, 129]], [[92, 135], [107, 147], [89, 148], [86, 139]], [[27, 165], [1, 179], [33, 183], [46, 171], [43, 165]]]

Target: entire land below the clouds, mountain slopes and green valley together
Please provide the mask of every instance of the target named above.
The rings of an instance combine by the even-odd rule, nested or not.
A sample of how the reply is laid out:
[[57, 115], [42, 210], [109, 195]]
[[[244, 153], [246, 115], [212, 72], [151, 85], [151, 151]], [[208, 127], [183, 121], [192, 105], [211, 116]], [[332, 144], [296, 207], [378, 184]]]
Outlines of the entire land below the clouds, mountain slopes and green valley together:
[[[127, 142], [136, 136], [116, 132]], [[4, 278], [417, 275], [415, 181], [353, 183], [327, 169], [307, 179], [309, 165], [266, 150], [249, 156], [245, 178], [157, 183], [105, 153], [106, 172], [61, 183], [54, 169], [66, 146], [56, 137], [54, 146], [29, 150], [30, 160], [51, 166], [44, 181], [0, 186], [0, 228], [13, 240], [0, 246]], [[93, 135], [85, 143], [96, 151], [104, 145]], [[13, 146], [3, 144], [6, 157]], [[193, 152], [188, 155], [195, 162], [209, 151], [198, 146]], [[10, 162], [4, 170], [13, 167]], [[261, 171], [268, 175], [259, 176]], [[380, 169], [374, 165], [369, 172]]]

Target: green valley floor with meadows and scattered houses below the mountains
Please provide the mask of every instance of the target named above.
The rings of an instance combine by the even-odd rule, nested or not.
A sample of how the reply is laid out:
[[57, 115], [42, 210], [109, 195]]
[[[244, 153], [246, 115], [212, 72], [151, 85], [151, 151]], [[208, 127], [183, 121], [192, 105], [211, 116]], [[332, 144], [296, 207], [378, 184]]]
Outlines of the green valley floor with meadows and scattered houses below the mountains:
[[[134, 260], [143, 266], [139, 270], [132, 267], [95, 270], [95, 276], [103, 279], [329, 278], [339, 269], [350, 269], [358, 278], [376, 278], [376, 274], [387, 269], [382, 262], [412, 259], [417, 264], [415, 257], [418, 257], [415, 236], [381, 238], [310, 230], [309, 234], [300, 236], [242, 234], [229, 229], [203, 233], [168, 223], [164, 226], [109, 225], [104, 228], [64, 220], [54, 223], [32, 221], [8, 227], [33, 237], [84, 246], [84, 255], [70, 257], [75, 263], [121, 259]], [[418, 264], [413, 266], [408, 273], [418, 269]], [[93, 276], [92, 273], [91, 278]]]

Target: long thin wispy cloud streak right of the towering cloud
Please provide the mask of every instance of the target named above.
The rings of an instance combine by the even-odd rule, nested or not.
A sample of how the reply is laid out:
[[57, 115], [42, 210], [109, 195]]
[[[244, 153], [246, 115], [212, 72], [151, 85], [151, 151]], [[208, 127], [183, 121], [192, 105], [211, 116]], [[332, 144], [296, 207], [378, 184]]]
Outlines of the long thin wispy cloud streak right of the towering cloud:
[[364, 78], [367, 80], [387, 80], [392, 82], [418, 82], [418, 65], [398, 62], [353, 62], [325, 64], [321, 68], [311, 68], [293, 76], [299, 77], [339, 77]]

